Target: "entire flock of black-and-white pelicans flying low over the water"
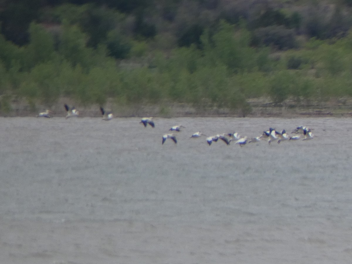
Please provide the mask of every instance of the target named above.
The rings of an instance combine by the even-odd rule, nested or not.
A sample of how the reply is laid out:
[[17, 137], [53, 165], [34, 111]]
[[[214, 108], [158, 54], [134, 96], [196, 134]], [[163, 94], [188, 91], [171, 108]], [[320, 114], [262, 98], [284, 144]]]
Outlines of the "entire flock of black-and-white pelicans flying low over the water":
[[[69, 107], [67, 104], [64, 105], [67, 115], [66, 119], [70, 117], [78, 117], [79, 111], [76, 110], [76, 108]], [[111, 120], [114, 118], [112, 112], [107, 112], [103, 107], [100, 107], [100, 112], [102, 114], [102, 119], [103, 120]], [[37, 117], [46, 117], [46, 118], [51, 118], [51, 111], [46, 110], [45, 112], [41, 112], [37, 115]], [[155, 127], [155, 122], [152, 117], [144, 117], [140, 120], [140, 124], [143, 124], [144, 127], [147, 127], [150, 125], [151, 127]], [[181, 129], [185, 128], [182, 125], [176, 125], [172, 126], [169, 131], [175, 131], [177, 133], [181, 132]], [[309, 140], [313, 139], [314, 135], [312, 134], [312, 131], [310, 128], [306, 126], [298, 126], [296, 127], [291, 134], [294, 134], [290, 136], [287, 134], [286, 130], [282, 131], [277, 131], [276, 129], [270, 127], [268, 130], [263, 131], [263, 133], [257, 137], [254, 138], [249, 138], [247, 136], [240, 136], [238, 132], [232, 132], [232, 133], [222, 133], [222, 134], [216, 134], [214, 136], [207, 136], [206, 134], [203, 134], [200, 131], [197, 131], [193, 133], [190, 138], [200, 138], [202, 136], [206, 137], [206, 141], [208, 145], [210, 146], [213, 142], [217, 142], [219, 139], [221, 139], [223, 142], [226, 143], [226, 145], [230, 145], [230, 142], [235, 142], [235, 144], [238, 144], [240, 146], [243, 146], [247, 143], [252, 143], [252, 142], [260, 142], [263, 140], [266, 140], [268, 144], [271, 142], [277, 141], [279, 144], [280, 142], [284, 140]], [[162, 136], [162, 144], [165, 143], [166, 139], [171, 139], [175, 144], [177, 144], [177, 139], [176, 139], [176, 134], [174, 133], [167, 133]]]

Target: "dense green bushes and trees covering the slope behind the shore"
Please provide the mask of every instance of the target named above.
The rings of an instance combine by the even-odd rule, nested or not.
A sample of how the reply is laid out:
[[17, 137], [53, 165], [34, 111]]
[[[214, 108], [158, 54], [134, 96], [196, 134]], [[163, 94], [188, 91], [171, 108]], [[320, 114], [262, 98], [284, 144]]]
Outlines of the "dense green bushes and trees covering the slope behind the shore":
[[[14, 3], [15, 2], [15, 3]], [[97, 4], [98, 3], [98, 4]], [[0, 106], [352, 95], [352, 1], [0, 1]]]

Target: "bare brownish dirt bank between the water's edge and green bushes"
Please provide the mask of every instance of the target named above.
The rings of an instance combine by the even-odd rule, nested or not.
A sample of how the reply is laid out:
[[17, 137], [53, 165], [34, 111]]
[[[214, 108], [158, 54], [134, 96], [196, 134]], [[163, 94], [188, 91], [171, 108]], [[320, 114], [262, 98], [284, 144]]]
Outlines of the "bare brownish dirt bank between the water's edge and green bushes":
[[[99, 105], [84, 106], [71, 99], [61, 98], [52, 106], [40, 103], [30, 104], [26, 100], [13, 100], [10, 111], [4, 111], [0, 105], [2, 117], [37, 116], [39, 112], [50, 109], [53, 117], [66, 115], [64, 104], [75, 106], [80, 111], [80, 117], [100, 117]], [[161, 103], [160, 105], [119, 105], [113, 99], [104, 106], [112, 111], [115, 117], [300, 117], [300, 116], [352, 116], [352, 98], [329, 99], [327, 101], [286, 100], [275, 105], [270, 98], [256, 98], [248, 100], [248, 111], [242, 109], [228, 109], [217, 107], [194, 107], [186, 103]]]

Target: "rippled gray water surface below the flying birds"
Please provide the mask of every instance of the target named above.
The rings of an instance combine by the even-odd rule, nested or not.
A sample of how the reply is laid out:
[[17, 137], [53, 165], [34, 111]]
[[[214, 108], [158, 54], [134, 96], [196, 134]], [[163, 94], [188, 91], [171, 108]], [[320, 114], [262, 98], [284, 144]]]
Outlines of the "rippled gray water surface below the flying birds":
[[139, 121], [0, 118], [0, 263], [351, 263], [351, 118]]

